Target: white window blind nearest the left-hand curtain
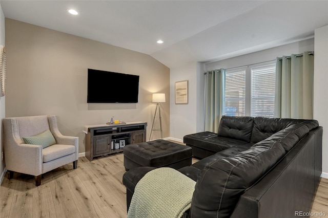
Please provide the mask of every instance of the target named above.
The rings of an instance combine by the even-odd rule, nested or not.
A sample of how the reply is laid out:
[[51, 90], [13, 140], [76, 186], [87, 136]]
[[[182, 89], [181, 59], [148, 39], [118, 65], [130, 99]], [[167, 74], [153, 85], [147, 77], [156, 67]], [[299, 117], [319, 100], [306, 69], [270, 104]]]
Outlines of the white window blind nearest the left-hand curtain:
[[245, 116], [245, 69], [227, 70], [224, 88], [224, 114]]

